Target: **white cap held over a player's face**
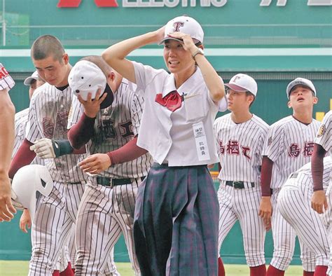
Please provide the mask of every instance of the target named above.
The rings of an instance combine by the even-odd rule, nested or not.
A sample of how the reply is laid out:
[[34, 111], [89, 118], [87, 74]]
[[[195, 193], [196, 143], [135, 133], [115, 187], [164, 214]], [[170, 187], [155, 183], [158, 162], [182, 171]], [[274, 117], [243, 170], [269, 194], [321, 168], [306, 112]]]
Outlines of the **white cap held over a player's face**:
[[89, 62], [88, 60], [77, 62], [74, 67], [71, 68], [68, 83], [74, 95], [81, 95], [85, 101], [88, 99], [89, 92], [92, 96], [91, 99], [95, 99], [97, 90], [100, 88], [102, 94], [107, 92], [106, 102], [108, 102], [109, 105], [113, 102], [113, 92], [107, 84], [106, 76], [102, 69], [93, 62]]

